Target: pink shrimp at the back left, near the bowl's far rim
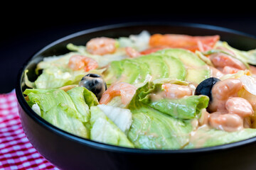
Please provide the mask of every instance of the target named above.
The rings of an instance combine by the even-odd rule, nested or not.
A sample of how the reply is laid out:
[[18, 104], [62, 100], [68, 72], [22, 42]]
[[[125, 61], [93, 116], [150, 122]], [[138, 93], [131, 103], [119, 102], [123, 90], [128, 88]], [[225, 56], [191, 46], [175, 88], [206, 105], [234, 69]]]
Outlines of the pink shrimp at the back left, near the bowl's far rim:
[[92, 38], [86, 44], [86, 49], [92, 55], [107, 55], [116, 50], [116, 40], [113, 38]]

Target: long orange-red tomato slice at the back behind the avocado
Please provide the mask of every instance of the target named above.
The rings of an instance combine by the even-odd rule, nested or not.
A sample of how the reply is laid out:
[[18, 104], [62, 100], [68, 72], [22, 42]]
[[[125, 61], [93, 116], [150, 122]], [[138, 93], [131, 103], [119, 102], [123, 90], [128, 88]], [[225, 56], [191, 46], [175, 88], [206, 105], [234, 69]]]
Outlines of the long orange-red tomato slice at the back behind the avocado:
[[149, 45], [151, 47], [172, 47], [183, 48], [195, 52], [196, 50], [206, 51], [213, 48], [216, 42], [220, 40], [219, 35], [213, 36], [190, 36], [176, 34], [154, 34], [151, 35]]

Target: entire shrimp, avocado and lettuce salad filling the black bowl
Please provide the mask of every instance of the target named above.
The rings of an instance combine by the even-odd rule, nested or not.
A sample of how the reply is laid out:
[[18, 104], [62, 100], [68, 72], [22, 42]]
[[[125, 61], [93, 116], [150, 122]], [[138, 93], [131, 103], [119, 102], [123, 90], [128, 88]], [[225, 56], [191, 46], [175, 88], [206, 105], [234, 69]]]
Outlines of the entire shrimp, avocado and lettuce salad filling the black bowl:
[[256, 50], [219, 35], [92, 38], [45, 57], [24, 97], [89, 140], [140, 149], [212, 147], [256, 136]]

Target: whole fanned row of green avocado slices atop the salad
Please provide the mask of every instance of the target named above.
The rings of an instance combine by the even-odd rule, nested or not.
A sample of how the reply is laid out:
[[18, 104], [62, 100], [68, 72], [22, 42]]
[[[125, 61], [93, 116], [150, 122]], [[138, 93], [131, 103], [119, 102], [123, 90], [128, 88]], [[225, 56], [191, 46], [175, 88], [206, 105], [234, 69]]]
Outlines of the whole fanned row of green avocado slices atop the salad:
[[103, 74], [107, 85], [115, 81], [129, 84], [172, 78], [199, 84], [210, 77], [210, 68], [193, 52], [166, 49], [134, 59], [114, 61]]

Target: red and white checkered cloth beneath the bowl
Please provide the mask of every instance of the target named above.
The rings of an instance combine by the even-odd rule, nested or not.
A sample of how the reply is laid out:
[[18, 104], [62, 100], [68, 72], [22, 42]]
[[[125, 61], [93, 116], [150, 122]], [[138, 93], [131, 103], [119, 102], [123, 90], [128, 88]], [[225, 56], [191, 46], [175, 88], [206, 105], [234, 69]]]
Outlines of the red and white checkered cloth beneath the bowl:
[[0, 170], [58, 169], [31, 145], [21, 127], [15, 91], [0, 94]]

